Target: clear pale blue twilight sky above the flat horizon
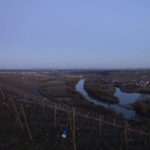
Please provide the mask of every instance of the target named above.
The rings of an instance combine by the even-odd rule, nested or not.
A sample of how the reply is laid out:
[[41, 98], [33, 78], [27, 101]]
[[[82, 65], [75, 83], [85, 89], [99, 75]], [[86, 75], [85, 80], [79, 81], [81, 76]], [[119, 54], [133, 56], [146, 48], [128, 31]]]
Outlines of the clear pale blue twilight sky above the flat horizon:
[[150, 67], [149, 0], [0, 0], [0, 68]]

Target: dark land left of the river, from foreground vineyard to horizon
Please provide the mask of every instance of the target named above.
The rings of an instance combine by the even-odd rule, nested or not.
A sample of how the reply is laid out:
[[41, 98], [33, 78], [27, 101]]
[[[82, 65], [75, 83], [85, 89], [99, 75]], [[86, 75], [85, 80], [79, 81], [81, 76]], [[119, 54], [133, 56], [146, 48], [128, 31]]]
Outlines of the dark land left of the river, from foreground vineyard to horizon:
[[[75, 91], [89, 72], [0, 72], [0, 149], [149, 149], [149, 125], [127, 121]], [[62, 133], [67, 129], [67, 138]]]

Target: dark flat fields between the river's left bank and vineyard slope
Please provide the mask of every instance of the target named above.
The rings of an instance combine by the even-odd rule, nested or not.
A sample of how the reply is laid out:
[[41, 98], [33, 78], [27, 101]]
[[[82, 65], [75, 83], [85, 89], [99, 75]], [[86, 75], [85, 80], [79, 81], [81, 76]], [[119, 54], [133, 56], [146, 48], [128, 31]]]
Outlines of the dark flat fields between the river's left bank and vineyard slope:
[[80, 81], [79, 78], [51, 78], [51, 80], [40, 83], [40, 94], [50, 101], [62, 105], [66, 104], [81, 111], [123, 118], [113, 109], [94, 105], [87, 101], [80, 92], [75, 90], [78, 81]]

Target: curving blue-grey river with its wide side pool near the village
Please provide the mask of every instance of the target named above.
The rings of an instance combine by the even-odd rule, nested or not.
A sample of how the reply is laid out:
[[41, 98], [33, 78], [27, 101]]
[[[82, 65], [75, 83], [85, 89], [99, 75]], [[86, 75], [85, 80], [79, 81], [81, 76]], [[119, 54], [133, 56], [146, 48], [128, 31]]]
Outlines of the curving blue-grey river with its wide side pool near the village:
[[[126, 104], [134, 103], [137, 99], [147, 96], [147, 94], [139, 93], [126, 93], [122, 92], [119, 88], [116, 88], [115, 96], [119, 98], [119, 104], [107, 104], [96, 98], [89, 96], [84, 89], [84, 82], [86, 79], [81, 79], [76, 85], [76, 91], [80, 92], [84, 98], [96, 105], [101, 105], [107, 108], [112, 108], [118, 113], [122, 113], [126, 119], [136, 120], [138, 115], [134, 110], [122, 107]], [[148, 95], [149, 96], [149, 95]]]

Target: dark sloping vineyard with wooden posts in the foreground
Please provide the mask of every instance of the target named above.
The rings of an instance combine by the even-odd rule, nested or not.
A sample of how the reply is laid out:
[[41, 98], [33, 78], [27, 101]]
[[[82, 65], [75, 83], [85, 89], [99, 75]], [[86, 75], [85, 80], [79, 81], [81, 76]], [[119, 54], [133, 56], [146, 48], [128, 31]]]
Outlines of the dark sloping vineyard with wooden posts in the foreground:
[[[149, 150], [150, 128], [50, 100], [0, 91], [0, 149]], [[66, 137], [62, 137], [65, 131]]]

